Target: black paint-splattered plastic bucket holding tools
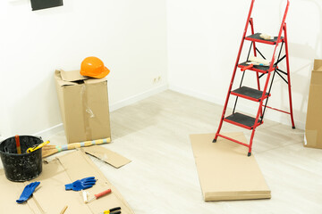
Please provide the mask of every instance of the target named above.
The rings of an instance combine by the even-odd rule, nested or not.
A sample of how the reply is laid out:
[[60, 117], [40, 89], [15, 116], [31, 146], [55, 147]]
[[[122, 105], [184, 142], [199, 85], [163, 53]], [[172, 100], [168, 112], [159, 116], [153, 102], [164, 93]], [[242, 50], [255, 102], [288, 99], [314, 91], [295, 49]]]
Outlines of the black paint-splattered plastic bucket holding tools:
[[0, 143], [0, 156], [4, 165], [5, 177], [11, 181], [28, 181], [36, 178], [42, 171], [41, 148], [27, 153], [30, 147], [43, 143], [40, 137], [19, 136], [21, 154], [17, 153], [15, 137]]

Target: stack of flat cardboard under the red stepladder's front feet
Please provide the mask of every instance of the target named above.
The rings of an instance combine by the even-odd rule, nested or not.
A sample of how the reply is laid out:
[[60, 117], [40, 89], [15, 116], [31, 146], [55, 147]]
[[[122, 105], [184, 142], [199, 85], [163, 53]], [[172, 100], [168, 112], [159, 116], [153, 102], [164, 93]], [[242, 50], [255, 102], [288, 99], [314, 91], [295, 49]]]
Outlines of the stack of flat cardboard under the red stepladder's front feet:
[[[247, 143], [242, 133], [225, 135]], [[254, 155], [247, 156], [248, 148], [221, 137], [214, 144], [214, 136], [190, 136], [204, 200], [270, 198], [270, 190]]]

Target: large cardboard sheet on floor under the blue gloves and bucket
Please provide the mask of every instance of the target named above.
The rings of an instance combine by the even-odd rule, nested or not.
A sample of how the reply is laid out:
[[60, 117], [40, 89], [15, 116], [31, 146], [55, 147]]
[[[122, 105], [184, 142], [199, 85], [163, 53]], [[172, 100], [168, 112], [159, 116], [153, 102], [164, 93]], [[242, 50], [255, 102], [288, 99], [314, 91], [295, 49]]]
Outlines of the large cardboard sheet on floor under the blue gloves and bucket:
[[[97, 183], [87, 189], [90, 193], [89, 199], [96, 193], [111, 188], [112, 193], [85, 204], [81, 192], [65, 191], [64, 185], [73, 181], [94, 176]], [[19, 198], [25, 185], [30, 182], [40, 181], [40, 185], [33, 193], [27, 203], [18, 204], [15, 201]], [[65, 213], [100, 213], [113, 207], [121, 207], [122, 213], [134, 213], [125, 202], [121, 193], [108, 182], [103, 173], [89, 159], [84, 152], [70, 152], [64, 156], [57, 157], [43, 165], [43, 171], [34, 180], [17, 183], [7, 180], [4, 176], [4, 169], [0, 169], [0, 213], [48, 213], [57, 214], [68, 208]]]

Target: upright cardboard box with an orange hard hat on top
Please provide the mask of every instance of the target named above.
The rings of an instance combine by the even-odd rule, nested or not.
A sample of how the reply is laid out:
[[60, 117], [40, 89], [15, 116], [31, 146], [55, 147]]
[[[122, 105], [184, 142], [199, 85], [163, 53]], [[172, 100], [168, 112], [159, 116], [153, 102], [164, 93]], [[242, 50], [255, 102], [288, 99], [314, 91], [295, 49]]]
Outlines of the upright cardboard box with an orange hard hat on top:
[[55, 85], [68, 143], [111, 137], [106, 78], [55, 70]]

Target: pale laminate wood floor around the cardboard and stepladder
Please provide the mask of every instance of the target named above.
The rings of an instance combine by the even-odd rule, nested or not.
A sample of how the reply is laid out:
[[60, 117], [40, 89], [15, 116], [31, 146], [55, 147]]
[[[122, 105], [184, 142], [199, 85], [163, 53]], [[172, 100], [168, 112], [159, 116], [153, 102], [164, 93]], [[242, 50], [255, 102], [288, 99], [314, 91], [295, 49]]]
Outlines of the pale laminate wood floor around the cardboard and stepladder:
[[[111, 113], [113, 142], [104, 146], [131, 163], [114, 169], [91, 159], [137, 214], [322, 213], [322, 150], [303, 147], [303, 130], [269, 120], [257, 129], [253, 154], [272, 198], [203, 201], [189, 135], [214, 133], [222, 108], [169, 90], [151, 96]], [[50, 140], [65, 144], [64, 132]]]

